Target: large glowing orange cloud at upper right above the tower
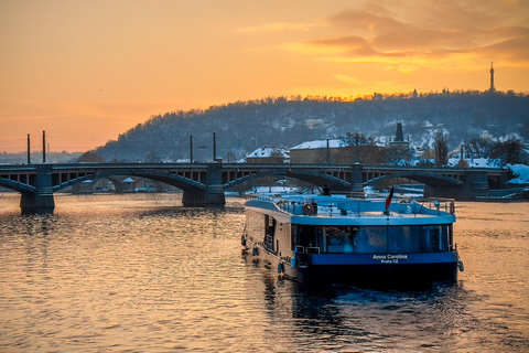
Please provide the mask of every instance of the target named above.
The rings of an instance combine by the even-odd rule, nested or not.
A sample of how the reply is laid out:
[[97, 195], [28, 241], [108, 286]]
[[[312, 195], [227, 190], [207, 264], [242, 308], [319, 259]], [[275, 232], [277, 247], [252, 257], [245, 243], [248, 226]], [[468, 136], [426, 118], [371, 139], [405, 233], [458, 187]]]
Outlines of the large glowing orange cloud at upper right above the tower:
[[[323, 22], [327, 32], [334, 29], [344, 35], [289, 43], [285, 49], [319, 61], [377, 63], [401, 73], [468, 67], [498, 57], [518, 64], [529, 61], [529, 28], [517, 19], [516, 9], [505, 10], [505, 3], [504, 8], [497, 1], [484, 1], [483, 7], [453, 1], [415, 6], [390, 9], [377, 3], [373, 12], [343, 11]], [[506, 13], [510, 17], [500, 23], [498, 17]]]

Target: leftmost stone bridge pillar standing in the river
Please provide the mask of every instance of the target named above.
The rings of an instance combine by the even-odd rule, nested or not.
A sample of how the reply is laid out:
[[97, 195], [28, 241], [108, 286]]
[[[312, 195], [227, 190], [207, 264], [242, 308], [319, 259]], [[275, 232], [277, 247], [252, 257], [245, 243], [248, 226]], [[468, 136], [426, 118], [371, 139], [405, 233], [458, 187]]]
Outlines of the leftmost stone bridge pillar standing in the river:
[[20, 197], [22, 214], [53, 214], [55, 201], [52, 190], [51, 165], [39, 165], [35, 183], [36, 192], [23, 192]]

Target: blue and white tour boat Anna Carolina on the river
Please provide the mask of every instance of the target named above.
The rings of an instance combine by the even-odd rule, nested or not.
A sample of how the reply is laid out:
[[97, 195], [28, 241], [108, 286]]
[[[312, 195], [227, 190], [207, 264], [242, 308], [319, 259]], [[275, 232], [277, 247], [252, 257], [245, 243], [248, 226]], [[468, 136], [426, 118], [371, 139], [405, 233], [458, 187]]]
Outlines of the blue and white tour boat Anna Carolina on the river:
[[241, 243], [253, 263], [302, 282], [456, 281], [452, 200], [251, 196]]

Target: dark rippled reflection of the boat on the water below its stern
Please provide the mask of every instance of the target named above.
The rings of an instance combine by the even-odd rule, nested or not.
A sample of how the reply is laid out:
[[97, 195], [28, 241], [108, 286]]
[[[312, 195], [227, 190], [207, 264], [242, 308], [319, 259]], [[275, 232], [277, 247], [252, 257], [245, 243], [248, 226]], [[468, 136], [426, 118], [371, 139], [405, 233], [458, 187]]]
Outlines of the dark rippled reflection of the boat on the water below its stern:
[[296, 346], [310, 340], [328, 351], [469, 349], [461, 333], [473, 321], [473, 295], [462, 284], [401, 291], [306, 286], [268, 274], [262, 281], [270, 319], [292, 323]]

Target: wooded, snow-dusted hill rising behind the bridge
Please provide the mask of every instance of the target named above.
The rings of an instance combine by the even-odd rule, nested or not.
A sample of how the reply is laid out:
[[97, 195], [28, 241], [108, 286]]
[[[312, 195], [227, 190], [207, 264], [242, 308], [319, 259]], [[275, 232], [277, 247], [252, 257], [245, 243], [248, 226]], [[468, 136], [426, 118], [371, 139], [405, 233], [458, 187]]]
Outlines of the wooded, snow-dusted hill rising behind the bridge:
[[258, 147], [292, 147], [312, 139], [359, 132], [379, 141], [392, 139], [397, 122], [404, 139], [432, 147], [442, 131], [456, 148], [484, 133], [529, 139], [529, 96], [521, 93], [443, 92], [341, 97], [268, 97], [208, 109], [153, 116], [96, 150], [105, 160], [158, 161], [217, 157], [235, 161]]

